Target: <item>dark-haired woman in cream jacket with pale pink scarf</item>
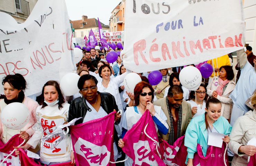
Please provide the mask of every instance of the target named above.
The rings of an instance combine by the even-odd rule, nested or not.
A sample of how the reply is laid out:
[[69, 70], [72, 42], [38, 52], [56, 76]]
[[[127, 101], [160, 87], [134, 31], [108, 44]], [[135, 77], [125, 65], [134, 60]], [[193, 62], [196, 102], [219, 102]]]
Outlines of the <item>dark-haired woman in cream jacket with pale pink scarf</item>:
[[207, 94], [210, 97], [220, 100], [221, 116], [229, 119], [233, 107], [232, 99], [229, 98], [230, 93], [235, 89], [234, 72], [231, 66], [221, 66], [219, 76], [216, 76], [207, 86]]

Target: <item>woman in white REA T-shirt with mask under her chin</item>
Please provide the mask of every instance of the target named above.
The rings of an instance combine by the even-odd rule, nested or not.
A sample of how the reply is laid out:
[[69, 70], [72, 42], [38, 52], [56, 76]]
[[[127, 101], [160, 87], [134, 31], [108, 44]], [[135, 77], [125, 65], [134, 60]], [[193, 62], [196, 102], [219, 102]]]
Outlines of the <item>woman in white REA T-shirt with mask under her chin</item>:
[[[75, 160], [71, 149], [71, 137], [64, 135], [62, 129], [58, 127], [67, 122], [70, 104], [65, 103], [60, 86], [56, 81], [46, 82], [42, 94], [44, 94], [44, 98], [41, 99], [40, 106], [36, 109], [37, 123], [33, 126], [35, 133], [24, 146], [19, 148], [35, 148], [41, 141], [41, 163], [52, 165], [72, 161], [73, 164]], [[54, 140], [57, 140], [57, 143]], [[16, 154], [19, 154], [18, 150], [16, 150]]]

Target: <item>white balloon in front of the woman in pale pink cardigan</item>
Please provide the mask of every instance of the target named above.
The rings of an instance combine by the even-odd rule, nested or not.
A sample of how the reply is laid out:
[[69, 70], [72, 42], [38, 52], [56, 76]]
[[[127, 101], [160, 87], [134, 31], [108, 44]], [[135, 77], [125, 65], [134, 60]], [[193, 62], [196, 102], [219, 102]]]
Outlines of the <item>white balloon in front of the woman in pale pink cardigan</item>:
[[10, 129], [21, 129], [30, 119], [29, 110], [26, 105], [13, 102], [1, 111], [1, 121]]

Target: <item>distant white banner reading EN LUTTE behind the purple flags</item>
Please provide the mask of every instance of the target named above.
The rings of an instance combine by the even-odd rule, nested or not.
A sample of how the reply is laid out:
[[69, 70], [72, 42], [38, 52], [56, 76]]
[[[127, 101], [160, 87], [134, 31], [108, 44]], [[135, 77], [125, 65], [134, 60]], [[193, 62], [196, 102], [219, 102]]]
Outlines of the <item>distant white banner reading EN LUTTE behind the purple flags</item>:
[[[116, 31], [116, 32], [103, 32], [107, 42], [124, 42], [124, 37], [122, 37], [122, 33], [124, 31]], [[100, 42], [100, 34], [99, 31], [93, 31], [93, 34], [98, 42]]]

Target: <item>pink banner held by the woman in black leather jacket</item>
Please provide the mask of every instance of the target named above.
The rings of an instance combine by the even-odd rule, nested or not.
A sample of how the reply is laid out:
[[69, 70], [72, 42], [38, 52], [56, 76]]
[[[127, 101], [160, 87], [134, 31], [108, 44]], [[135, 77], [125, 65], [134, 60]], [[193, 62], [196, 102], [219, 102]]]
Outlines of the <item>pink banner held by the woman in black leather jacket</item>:
[[114, 166], [113, 135], [115, 113], [70, 126], [76, 165]]

